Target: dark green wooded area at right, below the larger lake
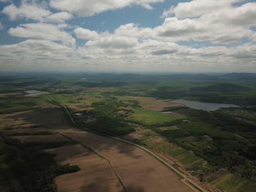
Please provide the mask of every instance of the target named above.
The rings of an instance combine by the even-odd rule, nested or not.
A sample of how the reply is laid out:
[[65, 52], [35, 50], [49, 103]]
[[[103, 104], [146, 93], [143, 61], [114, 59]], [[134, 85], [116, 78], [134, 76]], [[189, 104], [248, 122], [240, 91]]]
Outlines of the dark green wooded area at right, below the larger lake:
[[[198, 111], [188, 121], [173, 123], [179, 129], [155, 130], [170, 142], [192, 150], [209, 164], [255, 180], [256, 126], [239, 122], [221, 112], [203, 111]], [[248, 132], [252, 137], [246, 137]]]

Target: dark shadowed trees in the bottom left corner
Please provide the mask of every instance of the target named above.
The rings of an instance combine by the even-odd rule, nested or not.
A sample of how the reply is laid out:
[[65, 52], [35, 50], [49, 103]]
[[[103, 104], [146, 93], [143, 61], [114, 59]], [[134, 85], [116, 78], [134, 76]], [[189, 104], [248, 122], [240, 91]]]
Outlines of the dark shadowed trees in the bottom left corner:
[[[45, 153], [33, 144], [23, 145], [16, 139], [0, 136], [0, 174], [8, 182], [18, 183], [18, 191], [57, 191], [54, 178], [60, 174], [78, 172], [75, 165], [56, 164], [54, 155]], [[13, 186], [12, 186], [13, 188]]]

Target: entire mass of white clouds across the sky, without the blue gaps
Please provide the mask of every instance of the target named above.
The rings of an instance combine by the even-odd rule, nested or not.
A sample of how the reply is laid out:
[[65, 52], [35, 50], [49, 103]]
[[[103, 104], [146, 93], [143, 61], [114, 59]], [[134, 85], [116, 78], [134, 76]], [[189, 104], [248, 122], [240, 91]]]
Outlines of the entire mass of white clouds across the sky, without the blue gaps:
[[[10, 8], [3, 10], [11, 19], [21, 17], [39, 23], [10, 28], [8, 33], [11, 36], [26, 40], [13, 45], [0, 45], [1, 67], [5, 64], [15, 66], [18, 61], [20, 66], [43, 64], [48, 67], [56, 65], [56, 69], [61, 66], [61, 69], [74, 70], [95, 70], [98, 66], [100, 70], [122, 71], [131, 68], [149, 71], [206, 71], [219, 68], [228, 71], [230, 67], [243, 70], [244, 66], [255, 69], [256, 33], [252, 29], [256, 26], [255, 2], [234, 7], [233, 3], [238, 0], [192, 0], [164, 12], [162, 25], [146, 28], [127, 23], [111, 33], [80, 26], [70, 31], [65, 24], [73, 18], [72, 14], [88, 16], [132, 4], [151, 9], [152, 3], [160, 1], [50, 0], [50, 6], [63, 11], [57, 13], [39, 5], [39, 1], [24, 0], [20, 7], [11, 4], [16, 12], [9, 13], [7, 10]], [[48, 10], [48, 13], [42, 14], [42, 11], [39, 15], [29, 15], [24, 13], [25, 5]], [[86, 43], [76, 47], [72, 34], [78, 39], [85, 39]], [[243, 44], [241, 39], [244, 38], [251, 42]], [[187, 41], [187, 45], [181, 45], [180, 41]], [[207, 44], [203, 43], [206, 41]], [[197, 43], [201, 45], [194, 46]]]

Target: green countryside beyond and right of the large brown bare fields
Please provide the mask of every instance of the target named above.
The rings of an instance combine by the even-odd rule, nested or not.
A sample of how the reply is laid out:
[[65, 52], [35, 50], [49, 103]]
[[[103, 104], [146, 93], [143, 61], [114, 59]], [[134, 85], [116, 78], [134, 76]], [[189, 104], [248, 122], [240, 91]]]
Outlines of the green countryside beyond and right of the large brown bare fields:
[[[31, 89], [48, 91], [48, 94], [33, 98], [24, 96], [24, 91]], [[0, 77], [0, 90], [0, 114], [37, 109], [50, 102], [66, 105], [78, 126], [98, 134], [124, 136], [132, 131], [140, 132], [141, 128], [150, 129], [151, 134], [137, 139], [140, 145], [172, 155], [189, 172], [203, 173], [206, 181], [219, 189], [255, 191], [255, 74], [13, 76]], [[164, 101], [172, 99], [238, 104], [241, 108], [215, 112], [181, 106], [160, 109]], [[160, 106], [159, 111], [176, 115], [147, 110], [151, 109], [147, 105]], [[1, 119], [0, 126], [7, 128], [9, 125]], [[58, 145], [34, 145], [33, 153], [42, 155], [37, 151], [54, 146]], [[15, 154], [23, 154], [31, 146], [12, 147]], [[20, 164], [25, 164], [21, 161]], [[0, 180], [1, 183], [4, 181]], [[232, 183], [237, 183], [236, 187]]]

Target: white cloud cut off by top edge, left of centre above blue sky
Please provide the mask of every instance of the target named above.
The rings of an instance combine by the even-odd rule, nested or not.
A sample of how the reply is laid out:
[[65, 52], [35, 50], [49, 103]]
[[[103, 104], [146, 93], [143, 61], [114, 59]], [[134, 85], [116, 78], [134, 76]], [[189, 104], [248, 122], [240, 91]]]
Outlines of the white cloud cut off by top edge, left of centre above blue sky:
[[50, 6], [77, 15], [89, 16], [132, 4], [139, 4], [146, 9], [152, 9], [150, 4], [162, 1], [164, 0], [50, 0]]

